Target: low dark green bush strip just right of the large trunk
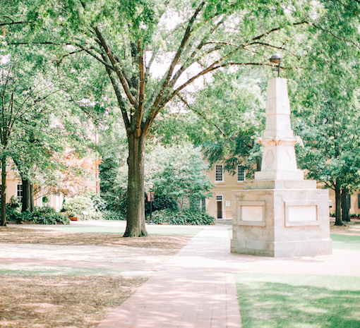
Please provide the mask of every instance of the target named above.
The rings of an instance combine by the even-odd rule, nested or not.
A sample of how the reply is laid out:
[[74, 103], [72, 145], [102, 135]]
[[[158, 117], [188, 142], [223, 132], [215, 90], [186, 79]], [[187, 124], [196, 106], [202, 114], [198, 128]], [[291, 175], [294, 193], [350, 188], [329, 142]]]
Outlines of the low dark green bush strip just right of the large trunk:
[[191, 224], [191, 225], [205, 225], [213, 224], [215, 217], [203, 212], [175, 212], [169, 209], [162, 209], [152, 213], [152, 221], [155, 224]]

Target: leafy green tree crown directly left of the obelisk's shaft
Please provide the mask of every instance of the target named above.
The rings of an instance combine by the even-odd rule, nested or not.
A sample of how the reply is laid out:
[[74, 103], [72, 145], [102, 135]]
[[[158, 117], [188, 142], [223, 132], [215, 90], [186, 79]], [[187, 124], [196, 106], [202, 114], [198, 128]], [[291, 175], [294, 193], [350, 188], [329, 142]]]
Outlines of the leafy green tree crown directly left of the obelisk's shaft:
[[183, 114], [181, 124], [210, 165], [223, 163], [231, 174], [244, 165], [249, 178], [256, 166], [260, 169], [256, 139], [265, 126], [265, 82], [263, 72], [254, 69], [218, 72], [212, 83], [192, 95], [191, 104], [186, 102], [192, 115], [189, 120]]

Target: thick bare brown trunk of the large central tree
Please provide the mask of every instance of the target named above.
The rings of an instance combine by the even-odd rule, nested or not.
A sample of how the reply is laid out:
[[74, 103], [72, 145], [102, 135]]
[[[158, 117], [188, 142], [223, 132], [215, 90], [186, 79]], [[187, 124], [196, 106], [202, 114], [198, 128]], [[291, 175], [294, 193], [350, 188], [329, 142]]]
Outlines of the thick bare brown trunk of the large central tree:
[[145, 136], [128, 133], [128, 205], [124, 237], [148, 236], [144, 201]]

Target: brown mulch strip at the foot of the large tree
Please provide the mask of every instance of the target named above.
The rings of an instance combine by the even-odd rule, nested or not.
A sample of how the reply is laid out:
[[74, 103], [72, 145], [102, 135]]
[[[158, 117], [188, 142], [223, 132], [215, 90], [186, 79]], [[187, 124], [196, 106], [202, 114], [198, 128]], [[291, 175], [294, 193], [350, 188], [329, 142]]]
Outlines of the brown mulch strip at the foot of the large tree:
[[148, 236], [122, 238], [115, 233], [80, 233], [24, 227], [0, 227], [0, 243], [42, 243], [47, 245], [130, 246], [135, 248], [164, 248], [177, 253], [191, 236]]

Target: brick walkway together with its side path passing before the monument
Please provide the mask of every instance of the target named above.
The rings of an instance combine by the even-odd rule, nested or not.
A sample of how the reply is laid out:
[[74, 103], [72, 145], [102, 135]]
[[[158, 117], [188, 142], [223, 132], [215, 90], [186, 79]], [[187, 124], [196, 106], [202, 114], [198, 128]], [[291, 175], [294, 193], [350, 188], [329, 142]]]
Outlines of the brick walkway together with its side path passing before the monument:
[[207, 226], [97, 328], [241, 327], [235, 272], [360, 277], [360, 250], [318, 257], [229, 253], [229, 226]]

